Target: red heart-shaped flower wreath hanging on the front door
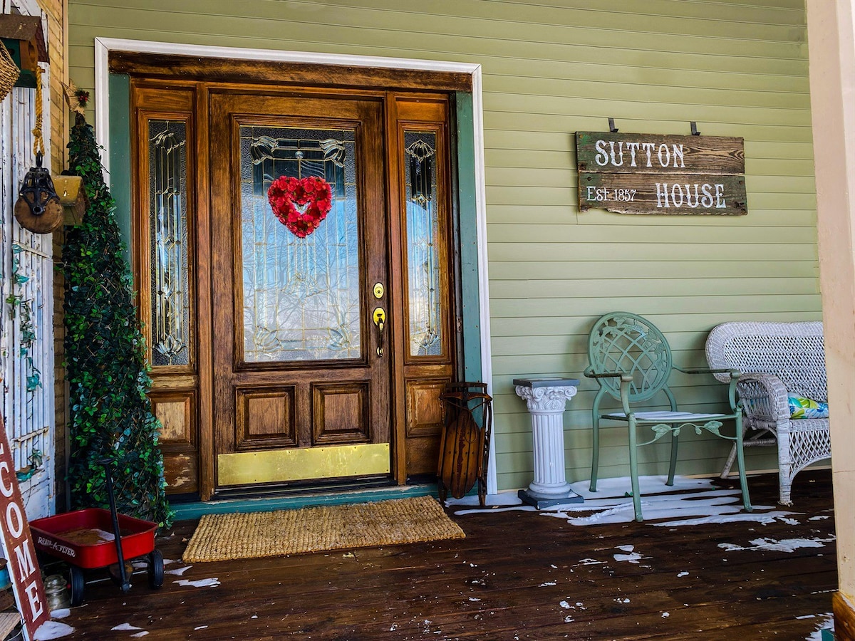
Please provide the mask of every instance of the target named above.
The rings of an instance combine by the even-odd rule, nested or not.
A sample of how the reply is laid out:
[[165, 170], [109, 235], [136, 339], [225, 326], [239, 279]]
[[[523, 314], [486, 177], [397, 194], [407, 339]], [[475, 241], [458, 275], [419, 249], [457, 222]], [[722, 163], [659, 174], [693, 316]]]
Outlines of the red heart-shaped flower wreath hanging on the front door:
[[333, 207], [333, 191], [317, 176], [280, 176], [268, 188], [268, 201], [276, 218], [294, 236], [306, 238]]

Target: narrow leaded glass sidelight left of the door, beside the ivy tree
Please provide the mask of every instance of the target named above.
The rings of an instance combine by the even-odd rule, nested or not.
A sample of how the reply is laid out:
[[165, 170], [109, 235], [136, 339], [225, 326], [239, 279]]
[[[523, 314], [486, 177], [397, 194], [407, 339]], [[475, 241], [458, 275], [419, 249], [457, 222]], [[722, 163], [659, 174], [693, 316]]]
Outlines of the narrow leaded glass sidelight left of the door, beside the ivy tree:
[[190, 363], [186, 123], [149, 121], [151, 361]]

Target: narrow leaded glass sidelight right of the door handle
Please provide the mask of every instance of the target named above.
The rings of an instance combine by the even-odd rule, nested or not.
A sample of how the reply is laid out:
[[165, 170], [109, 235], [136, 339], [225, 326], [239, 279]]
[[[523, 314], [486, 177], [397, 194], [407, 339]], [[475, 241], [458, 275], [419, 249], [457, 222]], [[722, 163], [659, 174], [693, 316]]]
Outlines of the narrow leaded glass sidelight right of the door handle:
[[436, 133], [404, 132], [410, 356], [442, 354]]

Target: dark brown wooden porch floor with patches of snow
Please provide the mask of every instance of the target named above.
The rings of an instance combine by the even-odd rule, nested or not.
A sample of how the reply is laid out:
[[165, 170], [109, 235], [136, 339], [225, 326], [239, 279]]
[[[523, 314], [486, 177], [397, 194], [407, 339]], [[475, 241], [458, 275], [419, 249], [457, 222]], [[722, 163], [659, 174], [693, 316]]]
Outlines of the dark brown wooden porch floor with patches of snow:
[[[775, 505], [775, 475], [750, 485], [755, 505]], [[144, 574], [127, 595], [87, 584], [64, 638], [818, 639], [837, 585], [830, 471], [801, 473], [793, 497], [797, 514], [767, 525], [575, 526], [452, 508], [463, 540], [183, 573], [172, 562], [179, 573], [159, 591]], [[167, 560], [180, 559], [195, 525], [158, 538]]]

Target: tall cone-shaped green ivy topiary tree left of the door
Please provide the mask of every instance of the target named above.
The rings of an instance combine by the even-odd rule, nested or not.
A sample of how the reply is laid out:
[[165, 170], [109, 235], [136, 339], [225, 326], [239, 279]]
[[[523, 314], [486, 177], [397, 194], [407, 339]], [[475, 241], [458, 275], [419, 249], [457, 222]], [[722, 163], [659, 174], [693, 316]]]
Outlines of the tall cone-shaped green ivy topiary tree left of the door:
[[82, 115], [68, 150], [69, 166], [83, 178], [89, 198], [83, 223], [68, 230], [62, 247], [72, 507], [109, 505], [109, 461], [116, 509], [168, 526], [173, 513], [157, 446], [159, 422], [146, 396], [151, 379], [131, 272], [95, 135]]

